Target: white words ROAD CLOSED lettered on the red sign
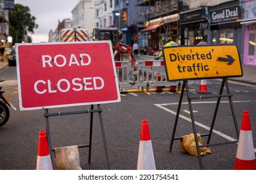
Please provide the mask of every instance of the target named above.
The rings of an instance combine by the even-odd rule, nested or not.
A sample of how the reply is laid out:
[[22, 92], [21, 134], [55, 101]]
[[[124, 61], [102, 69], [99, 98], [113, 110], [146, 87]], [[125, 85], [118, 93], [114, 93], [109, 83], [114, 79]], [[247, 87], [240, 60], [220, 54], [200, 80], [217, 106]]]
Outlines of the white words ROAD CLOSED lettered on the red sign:
[[[64, 56], [58, 54], [54, 57], [49, 55], [42, 56], [42, 67], [86, 67], [90, 65], [91, 57], [88, 54], [70, 54]], [[38, 94], [57, 93], [57, 92], [75, 92], [101, 90], [104, 88], [104, 80], [100, 76], [75, 77], [72, 79], [60, 78], [57, 82], [51, 79], [37, 80], [33, 84], [33, 89]]]

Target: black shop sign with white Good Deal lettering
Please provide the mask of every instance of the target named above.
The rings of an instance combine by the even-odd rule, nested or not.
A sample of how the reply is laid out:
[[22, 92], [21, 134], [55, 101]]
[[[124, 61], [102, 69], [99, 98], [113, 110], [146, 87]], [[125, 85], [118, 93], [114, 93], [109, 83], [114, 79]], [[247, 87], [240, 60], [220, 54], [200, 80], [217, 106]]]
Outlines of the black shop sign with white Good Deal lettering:
[[239, 5], [211, 10], [211, 24], [224, 24], [226, 22], [237, 22], [238, 20], [241, 20]]

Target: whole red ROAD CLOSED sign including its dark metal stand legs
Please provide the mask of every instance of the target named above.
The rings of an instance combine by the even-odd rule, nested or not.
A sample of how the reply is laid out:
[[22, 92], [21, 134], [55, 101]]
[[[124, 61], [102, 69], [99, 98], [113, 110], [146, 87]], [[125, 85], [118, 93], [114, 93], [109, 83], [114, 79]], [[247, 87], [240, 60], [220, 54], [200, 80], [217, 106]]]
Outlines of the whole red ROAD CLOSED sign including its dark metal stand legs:
[[[33, 52], [30, 52], [30, 51], [28, 52], [28, 48], [32, 48], [32, 47], [33, 47], [32, 49]], [[106, 53], [101, 52], [100, 54], [98, 54], [98, 50], [100, 48], [103, 48], [104, 52]], [[89, 148], [88, 163], [91, 163], [93, 114], [97, 112], [99, 121], [100, 121], [100, 130], [102, 134], [106, 168], [110, 169], [110, 163], [108, 159], [108, 150], [106, 145], [106, 137], [104, 132], [103, 120], [102, 120], [102, 109], [100, 108], [100, 104], [114, 103], [114, 102], [121, 101], [111, 42], [110, 41], [93, 41], [93, 42], [87, 41], [87, 42], [58, 42], [58, 43], [45, 43], [45, 44], [32, 44], [32, 43], [17, 44], [16, 52], [18, 56], [17, 73], [18, 73], [18, 86], [20, 90], [19, 92], [20, 101], [22, 101], [22, 93], [26, 93], [24, 94], [26, 97], [31, 97], [31, 95], [35, 96], [35, 92], [39, 94], [44, 94], [45, 92], [43, 91], [47, 91], [46, 89], [38, 90], [37, 85], [35, 87], [35, 84], [39, 82], [41, 84], [42, 83], [46, 84], [44, 80], [42, 81], [43, 76], [47, 76], [54, 80], [53, 82], [49, 82], [50, 80], [48, 80], [49, 91], [54, 90], [54, 92], [49, 92], [49, 93], [56, 93], [56, 89], [58, 89], [59, 92], [62, 92], [61, 93], [62, 95], [58, 93], [58, 95], [49, 96], [48, 94], [47, 100], [51, 101], [52, 103], [45, 103], [44, 105], [42, 105], [42, 103], [43, 101], [45, 101], [43, 99], [45, 95], [43, 97], [38, 97], [37, 95], [37, 99], [39, 98], [39, 100], [36, 101], [35, 104], [33, 105], [29, 104], [26, 107], [24, 107], [24, 105], [22, 105], [23, 103], [20, 102], [20, 110], [34, 110], [34, 109], [41, 109], [41, 108], [45, 110], [45, 114], [43, 116], [45, 117], [47, 141], [48, 141], [48, 146], [50, 150], [52, 164], [54, 164], [53, 163], [54, 149], [52, 148], [52, 144], [51, 144], [51, 130], [49, 125], [49, 117], [64, 116], [64, 115], [71, 115], [71, 114], [91, 114], [89, 144], [78, 146], [78, 148], [87, 148], [87, 147]], [[60, 52], [63, 53], [63, 55], [60, 54]], [[68, 59], [66, 58], [66, 55], [70, 56], [69, 64], [66, 64], [68, 63]], [[53, 56], [54, 58], [52, 58]], [[45, 58], [48, 58], [48, 59], [45, 59]], [[62, 61], [62, 63], [58, 63], [57, 58], [61, 58], [60, 61]], [[28, 65], [30, 68], [26, 67], [26, 65]], [[46, 65], [48, 65], [48, 67], [46, 67]], [[90, 67], [88, 67], [88, 65], [90, 65]], [[104, 67], [100, 67], [100, 65], [104, 65]], [[70, 67], [72, 66], [74, 67], [70, 69]], [[85, 66], [87, 66], [87, 68], [85, 68]], [[42, 68], [44, 69], [44, 72], [38, 72]], [[35, 74], [40, 73], [41, 78], [36, 78], [35, 79], [36, 82], [34, 80], [33, 82], [31, 82], [31, 80], [27, 81], [28, 73], [30, 75], [34, 73]], [[66, 85], [60, 84], [59, 82], [60, 80], [58, 81], [58, 84], [55, 84], [56, 80], [59, 79], [57, 77], [60, 77], [60, 75], [65, 77], [65, 78], [61, 78], [60, 80], [63, 80], [63, 81], [65, 80], [67, 83]], [[85, 76], [85, 75], [90, 75], [90, 76]], [[37, 75], [34, 75], [33, 77], [35, 76]], [[83, 80], [80, 80], [80, 78], [78, 78], [79, 76], [83, 76]], [[26, 79], [26, 82], [23, 82], [25, 80], [24, 78]], [[83, 81], [83, 83], [75, 83], [74, 85], [75, 86], [79, 85], [80, 88], [75, 88], [74, 86], [73, 90], [76, 92], [79, 92], [86, 89], [87, 92], [66, 93], [70, 89], [70, 86], [68, 85], [71, 83], [70, 80], [72, 80], [72, 84], [74, 84], [75, 81], [77, 80], [79, 80], [80, 82]], [[92, 81], [89, 81], [89, 80], [92, 80]], [[33, 85], [34, 86], [33, 90], [32, 90], [32, 86], [30, 85], [31, 83], [32, 84], [35, 83]], [[98, 86], [99, 83], [102, 85]], [[50, 86], [52, 84], [54, 85]], [[106, 88], [103, 87], [104, 84], [106, 85]], [[87, 88], [87, 85], [88, 85], [88, 88]], [[30, 88], [29, 89], [26, 88], [27, 86], [29, 86]], [[102, 88], [104, 90], [101, 90]], [[98, 90], [98, 91], [92, 93], [91, 90]], [[63, 93], [66, 96], [63, 96]], [[72, 96], [75, 96], [75, 97], [72, 97]], [[56, 97], [58, 97], [58, 99], [56, 99]], [[62, 101], [63, 99], [66, 99], [66, 100]], [[30, 99], [30, 100], [33, 101], [33, 99]], [[71, 107], [71, 106], [81, 106], [81, 105], [91, 105], [91, 109], [88, 108], [87, 110], [81, 110], [81, 111], [49, 113], [49, 108]], [[96, 109], [94, 108], [94, 105], [97, 106]]]

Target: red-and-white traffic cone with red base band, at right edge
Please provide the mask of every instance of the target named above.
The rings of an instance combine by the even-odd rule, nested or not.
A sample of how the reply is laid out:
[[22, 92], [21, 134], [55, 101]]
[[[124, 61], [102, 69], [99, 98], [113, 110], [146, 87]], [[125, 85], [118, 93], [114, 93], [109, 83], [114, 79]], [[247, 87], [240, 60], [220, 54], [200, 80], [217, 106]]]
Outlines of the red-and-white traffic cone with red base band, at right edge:
[[242, 118], [234, 170], [256, 170], [251, 122], [247, 110], [244, 110]]

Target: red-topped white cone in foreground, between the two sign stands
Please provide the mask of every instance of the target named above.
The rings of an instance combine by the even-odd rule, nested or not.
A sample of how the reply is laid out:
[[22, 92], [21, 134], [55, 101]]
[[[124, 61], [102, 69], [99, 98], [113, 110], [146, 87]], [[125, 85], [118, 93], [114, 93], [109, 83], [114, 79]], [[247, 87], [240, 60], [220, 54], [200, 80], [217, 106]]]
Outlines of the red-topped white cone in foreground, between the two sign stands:
[[137, 170], [156, 170], [148, 120], [142, 120]]

